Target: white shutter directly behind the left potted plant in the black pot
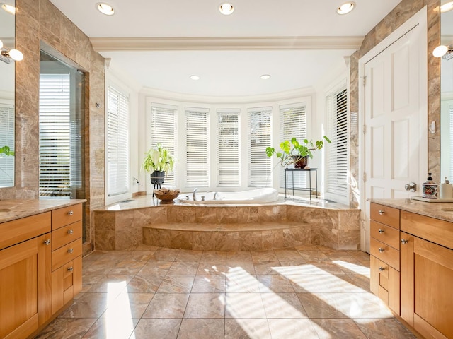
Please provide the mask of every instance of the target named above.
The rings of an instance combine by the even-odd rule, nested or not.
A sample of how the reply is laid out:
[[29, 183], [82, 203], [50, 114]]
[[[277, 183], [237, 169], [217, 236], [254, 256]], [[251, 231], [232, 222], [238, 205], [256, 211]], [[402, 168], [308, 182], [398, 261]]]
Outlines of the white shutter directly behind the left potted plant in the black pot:
[[[178, 107], [171, 105], [151, 104], [151, 144], [149, 148], [154, 148], [157, 143], [161, 143], [164, 148], [172, 155], [176, 154], [177, 145], [177, 126], [178, 126]], [[176, 187], [177, 178], [175, 177], [176, 164], [173, 171], [165, 173], [164, 186], [169, 188]], [[149, 179], [149, 176], [147, 177]]]

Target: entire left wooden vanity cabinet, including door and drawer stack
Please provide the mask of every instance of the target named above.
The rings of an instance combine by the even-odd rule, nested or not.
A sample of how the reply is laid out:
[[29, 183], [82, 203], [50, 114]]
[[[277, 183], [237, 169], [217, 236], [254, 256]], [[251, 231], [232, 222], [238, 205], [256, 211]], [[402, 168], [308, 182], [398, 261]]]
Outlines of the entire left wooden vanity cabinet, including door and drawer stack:
[[0, 339], [33, 338], [82, 287], [82, 204], [0, 222]]

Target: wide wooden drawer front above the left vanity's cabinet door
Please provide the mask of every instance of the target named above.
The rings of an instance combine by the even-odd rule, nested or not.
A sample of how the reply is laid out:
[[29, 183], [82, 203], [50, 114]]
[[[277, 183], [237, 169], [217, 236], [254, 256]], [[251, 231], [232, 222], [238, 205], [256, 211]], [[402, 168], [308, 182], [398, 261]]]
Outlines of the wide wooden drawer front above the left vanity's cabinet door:
[[50, 232], [50, 212], [0, 223], [0, 249]]

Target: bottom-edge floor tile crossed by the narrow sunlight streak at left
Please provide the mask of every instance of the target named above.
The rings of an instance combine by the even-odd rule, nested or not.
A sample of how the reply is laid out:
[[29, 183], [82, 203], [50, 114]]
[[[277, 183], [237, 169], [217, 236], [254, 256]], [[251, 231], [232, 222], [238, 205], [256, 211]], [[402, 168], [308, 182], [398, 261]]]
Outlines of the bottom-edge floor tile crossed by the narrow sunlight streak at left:
[[107, 317], [100, 318], [89, 331], [84, 339], [128, 339], [134, 331], [139, 319]]

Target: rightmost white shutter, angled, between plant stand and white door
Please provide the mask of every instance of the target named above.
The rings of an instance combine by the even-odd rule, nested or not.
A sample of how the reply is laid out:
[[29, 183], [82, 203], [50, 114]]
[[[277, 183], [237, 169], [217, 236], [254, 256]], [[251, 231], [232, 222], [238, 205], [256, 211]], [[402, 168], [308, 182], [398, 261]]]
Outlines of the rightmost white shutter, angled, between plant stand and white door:
[[348, 197], [348, 91], [346, 85], [326, 97], [326, 193]]

